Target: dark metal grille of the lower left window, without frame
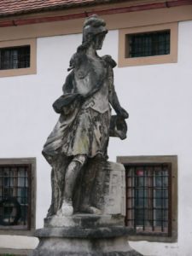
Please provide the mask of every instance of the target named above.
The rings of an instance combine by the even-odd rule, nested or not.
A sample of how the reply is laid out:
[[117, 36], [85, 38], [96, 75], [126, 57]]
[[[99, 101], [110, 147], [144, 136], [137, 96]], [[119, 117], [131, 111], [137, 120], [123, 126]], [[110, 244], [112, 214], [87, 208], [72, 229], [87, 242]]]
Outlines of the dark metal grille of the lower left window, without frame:
[[31, 166], [0, 166], [0, 226], [30, 228]]

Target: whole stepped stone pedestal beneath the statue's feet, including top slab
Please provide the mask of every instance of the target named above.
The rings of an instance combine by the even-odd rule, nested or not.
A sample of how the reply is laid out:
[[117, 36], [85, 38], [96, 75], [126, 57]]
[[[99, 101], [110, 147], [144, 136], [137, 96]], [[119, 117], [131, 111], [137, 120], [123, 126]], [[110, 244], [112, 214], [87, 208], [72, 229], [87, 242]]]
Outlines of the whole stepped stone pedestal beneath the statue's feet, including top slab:
[[132, 230], [119, 216], [77, 214], [46, 218], [37, 230], [39, 245], [32, 256], [141, 256], [128, 243]]

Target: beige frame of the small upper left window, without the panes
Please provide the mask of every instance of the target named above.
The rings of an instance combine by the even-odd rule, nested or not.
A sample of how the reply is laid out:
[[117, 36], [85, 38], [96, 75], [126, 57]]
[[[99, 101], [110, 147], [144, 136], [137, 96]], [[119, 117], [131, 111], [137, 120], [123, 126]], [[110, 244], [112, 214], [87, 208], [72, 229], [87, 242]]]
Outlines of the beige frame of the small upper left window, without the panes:
[[2, 41], [0, 42], [0, 49], [15, 48], [20, 46], [22, 47], [26, 45], [30, 46], [30, 67], [0, 70], [0, 78], [37, 73], [37, 40], [36, 38]]

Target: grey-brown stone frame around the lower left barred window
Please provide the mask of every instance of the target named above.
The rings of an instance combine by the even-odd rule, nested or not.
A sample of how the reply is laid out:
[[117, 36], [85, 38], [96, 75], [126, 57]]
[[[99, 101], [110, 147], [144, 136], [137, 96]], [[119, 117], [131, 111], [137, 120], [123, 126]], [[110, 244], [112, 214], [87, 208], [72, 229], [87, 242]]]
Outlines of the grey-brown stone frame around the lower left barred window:
[[0, 235], [21, 235], [32, 236], [33, 231], [36, 228], [36, 158], [8, 158], [0, 159], [0, 166], [30, 166], [30, 216], [28, 217], [28, 228], [17, 229], [14, 226], [0, 227]]

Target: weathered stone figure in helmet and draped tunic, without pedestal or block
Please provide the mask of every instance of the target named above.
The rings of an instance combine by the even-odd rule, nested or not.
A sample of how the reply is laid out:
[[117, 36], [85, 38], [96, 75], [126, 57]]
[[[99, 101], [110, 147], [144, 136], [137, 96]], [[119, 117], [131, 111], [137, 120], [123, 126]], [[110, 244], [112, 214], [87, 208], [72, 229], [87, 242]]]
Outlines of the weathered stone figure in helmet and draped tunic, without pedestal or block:
[[[95, 160], [96, 166], [96, 162], [108, 159], [109, 136], [126, 137], [128, 113], [121, 108], [113, 85], [116, 63], [110, 55], [100, 57], [96, 52], [102, 49], [108, 33], [105, 25], [97, 15], [84, 21], [83, 42], [71, 58], [63, 95], [53, 104], [60, 118], [43, 149], [52, 166], [48, 217], [73, 215], [80, 172], [88, 168], [91, 160]], [[114, 116], [111, 107], [116, 112]], [[80, 203], [78, 210], [100, 212], [86, 203]]]

